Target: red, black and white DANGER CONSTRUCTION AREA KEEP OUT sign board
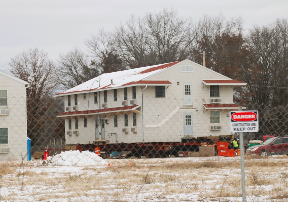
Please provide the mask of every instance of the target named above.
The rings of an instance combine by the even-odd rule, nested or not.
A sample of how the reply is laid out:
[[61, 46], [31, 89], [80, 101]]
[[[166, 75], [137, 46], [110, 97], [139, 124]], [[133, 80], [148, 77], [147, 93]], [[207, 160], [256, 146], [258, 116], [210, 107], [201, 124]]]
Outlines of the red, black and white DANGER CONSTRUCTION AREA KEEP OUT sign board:
[[230, 112], [230, 129], [232, 133], [258, 132], [258, 111]]

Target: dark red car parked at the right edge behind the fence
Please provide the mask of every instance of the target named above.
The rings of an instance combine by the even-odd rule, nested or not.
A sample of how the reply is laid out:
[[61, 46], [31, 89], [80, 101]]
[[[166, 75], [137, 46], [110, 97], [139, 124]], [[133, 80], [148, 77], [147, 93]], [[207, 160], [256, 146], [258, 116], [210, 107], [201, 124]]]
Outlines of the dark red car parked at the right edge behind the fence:
[[247, 155], [269, 155], [286, 154], [288, 155], [288, 136], [271, 137], [260, 145], [249, 147], [246, 150]]

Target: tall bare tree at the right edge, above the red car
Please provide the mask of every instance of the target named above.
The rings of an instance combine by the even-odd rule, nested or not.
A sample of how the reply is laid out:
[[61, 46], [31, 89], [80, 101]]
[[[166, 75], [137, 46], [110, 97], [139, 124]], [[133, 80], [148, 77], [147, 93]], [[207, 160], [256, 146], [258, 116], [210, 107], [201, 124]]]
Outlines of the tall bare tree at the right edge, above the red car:
[[257, 71], [247, 80], [254, 103], [288, 103], [287, 41], [288, 23], [284, 19], [249, 30], [247, 42], [257, 60]]

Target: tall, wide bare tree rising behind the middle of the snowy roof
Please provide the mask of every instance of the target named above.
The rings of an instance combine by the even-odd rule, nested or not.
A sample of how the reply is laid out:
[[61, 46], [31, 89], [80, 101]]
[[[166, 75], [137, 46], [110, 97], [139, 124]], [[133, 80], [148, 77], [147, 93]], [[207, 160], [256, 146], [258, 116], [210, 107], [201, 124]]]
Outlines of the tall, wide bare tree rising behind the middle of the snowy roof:
[[116, 28], [116, 44], [131, 68], [166, 63], [187, 57], [191, 43], [191, 20], [166, 8], [148, 13], [144, 18], [132, 16], [126, 26]]

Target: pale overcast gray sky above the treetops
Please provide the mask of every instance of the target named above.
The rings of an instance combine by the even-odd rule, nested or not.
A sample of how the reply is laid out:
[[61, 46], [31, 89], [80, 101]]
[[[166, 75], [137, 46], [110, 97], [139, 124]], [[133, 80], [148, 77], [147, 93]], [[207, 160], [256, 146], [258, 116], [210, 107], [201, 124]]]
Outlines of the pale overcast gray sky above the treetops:
[[203, 15], [242, 17], [245, 29], [288, 18], [287, 0], [0, 0], [0, 70], [11, 58], [39, 48], [56, 60], [73, 47], [86, 51], [84, 41], [98, 30], [113, 30], [133, 14], [142, 17], [167, 7], [194, 21]]

